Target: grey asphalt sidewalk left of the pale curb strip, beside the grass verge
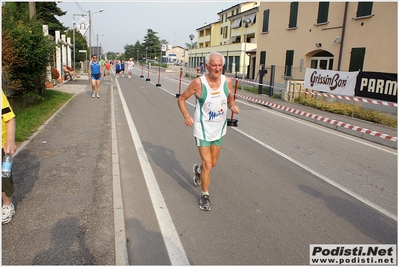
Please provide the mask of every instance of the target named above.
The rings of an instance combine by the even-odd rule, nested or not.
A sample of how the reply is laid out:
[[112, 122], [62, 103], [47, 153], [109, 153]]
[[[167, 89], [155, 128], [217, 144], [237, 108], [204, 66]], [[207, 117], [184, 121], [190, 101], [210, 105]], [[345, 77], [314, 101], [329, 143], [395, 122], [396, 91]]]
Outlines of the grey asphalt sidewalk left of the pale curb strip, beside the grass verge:
[[76, 95], [14, 156], [2, 264], [115, 265], [110, 82], [99, 99], [87, 76], [54, 89]]

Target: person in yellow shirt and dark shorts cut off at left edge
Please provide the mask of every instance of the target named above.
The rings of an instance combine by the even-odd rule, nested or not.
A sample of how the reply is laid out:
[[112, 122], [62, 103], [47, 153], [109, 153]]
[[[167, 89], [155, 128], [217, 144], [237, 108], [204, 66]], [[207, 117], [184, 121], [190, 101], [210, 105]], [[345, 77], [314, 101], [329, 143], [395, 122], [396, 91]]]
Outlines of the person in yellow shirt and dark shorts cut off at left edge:
[[[1, 158], [5, 154], [13, 155], [17, 149], [15, 144], [15, 114], [8, 102], [3, 90], [1, 97], [1, 129], [2, 129], [2, 152]], [[14, 204], [12, 204], [12, 194], [15, 192], [14, 182], [12, 179], [12, 172], [9, 178], [2, 178], [2, 193], [1, 198], [3, 201], [3, 214], [2, 224], [9, 223], [15, 214]]]

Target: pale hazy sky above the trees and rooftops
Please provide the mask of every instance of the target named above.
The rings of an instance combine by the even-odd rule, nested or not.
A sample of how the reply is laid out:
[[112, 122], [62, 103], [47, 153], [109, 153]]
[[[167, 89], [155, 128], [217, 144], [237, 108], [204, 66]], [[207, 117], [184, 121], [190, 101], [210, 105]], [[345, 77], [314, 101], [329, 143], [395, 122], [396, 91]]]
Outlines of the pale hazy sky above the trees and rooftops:
[[[57, 19], [72, 29], [81, 18], [74, 14], [92, 13], [92, 46], [97, 45], [105, 52], [124, 52], [126, 45], [142, 43], [147, 29], [157, 32], [160, 40], [165, 39], [169, 45], [186, 47], [190, 43], [189, 35], [195, 36], [196, 29], [219, 20], [219, 13], [241, 2], [231, 1], [57, 1], [57, 6], [67, 11], [65, 16]], [[103, 12], [96, 13], [100, 9]], [[84, 17], [89, 22], [89, 16]], [[89, 31], [86, 35], [89, 43]]]

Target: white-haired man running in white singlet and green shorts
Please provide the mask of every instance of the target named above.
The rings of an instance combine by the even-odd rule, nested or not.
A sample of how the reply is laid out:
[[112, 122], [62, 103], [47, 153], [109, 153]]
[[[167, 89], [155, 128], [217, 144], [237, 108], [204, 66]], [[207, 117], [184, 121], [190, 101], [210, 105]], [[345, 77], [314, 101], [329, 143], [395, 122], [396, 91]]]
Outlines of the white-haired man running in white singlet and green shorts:
[[[178, 106], [187, 126], [194, 126], [194, 138], [201, 156], [201, 164], [194, 164], [193, 182], [202, 188], [199, 208], [210, 210], [209, 184], [211, 169], [219, 158], [222, 138], [227, 128], [227, 108], [238, 114], [232, 93], [233, 82], [222, 75], [225, 59], [222, 54], [212, 52], [206, 55], [206, 75], [196, 78], [178, 98]], [[195, 95], [194, 119], [186, 108], [186, 100]]]

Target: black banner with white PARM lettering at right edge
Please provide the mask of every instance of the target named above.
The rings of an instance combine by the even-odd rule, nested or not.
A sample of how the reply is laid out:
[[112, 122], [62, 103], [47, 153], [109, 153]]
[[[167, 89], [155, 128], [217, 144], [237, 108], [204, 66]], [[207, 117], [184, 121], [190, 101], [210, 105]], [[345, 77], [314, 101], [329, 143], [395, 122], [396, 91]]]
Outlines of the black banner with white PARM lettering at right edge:
[[361, 71], [357, 76], [355, 95], [398, 103], [398, 74]]

